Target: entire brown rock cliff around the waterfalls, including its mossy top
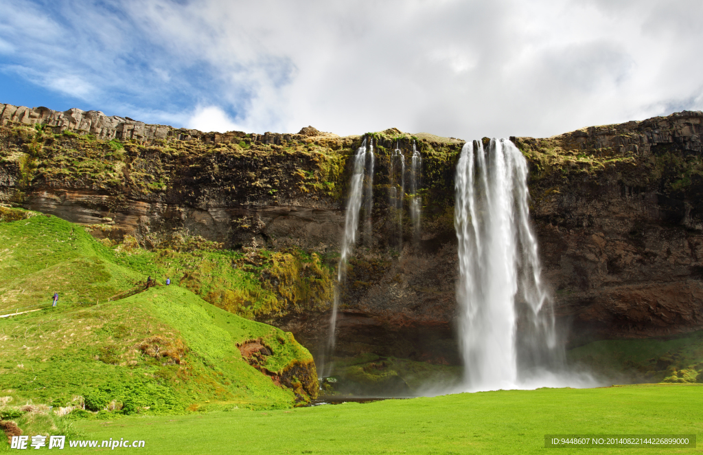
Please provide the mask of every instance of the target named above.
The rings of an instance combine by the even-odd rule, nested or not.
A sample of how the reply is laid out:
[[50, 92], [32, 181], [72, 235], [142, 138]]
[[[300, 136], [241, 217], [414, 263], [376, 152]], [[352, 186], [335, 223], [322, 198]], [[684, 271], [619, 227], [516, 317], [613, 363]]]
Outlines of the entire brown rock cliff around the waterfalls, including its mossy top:
[[[202, 133], [96, 111], [1, 105], [0, 200], [101, 225], [157, 247], [170, 232], [315, 251], [336, 265], [362, 137]], [[548, 139], [511, 138], [530, 166], [531, 214], [557, 317], [572, 344], [703, 328], [703, 113], [589, 127]], [[341, 285], [337, 353], [458, 362], [454, 168], [463, 141], [386, 130], [374, 204]], [[389, 206], [391, 151], [423, 155], [423, 220], [409, 200]], [[331, 304], [331, 302], [330, 302]], [[302, 305], [304, 306], [304, 305]], [[329, 314], [264, 322], [314, 353]]]

